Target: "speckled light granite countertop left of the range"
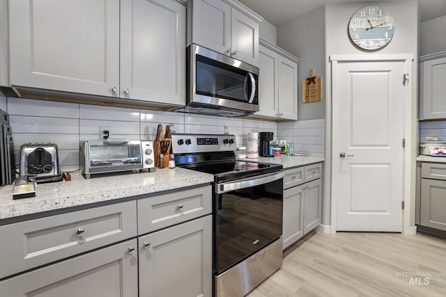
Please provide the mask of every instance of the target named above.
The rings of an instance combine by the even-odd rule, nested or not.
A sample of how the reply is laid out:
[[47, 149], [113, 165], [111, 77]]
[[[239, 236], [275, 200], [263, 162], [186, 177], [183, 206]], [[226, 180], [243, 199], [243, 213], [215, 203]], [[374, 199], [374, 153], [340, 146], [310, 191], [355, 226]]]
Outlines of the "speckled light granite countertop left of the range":
[[36, 197], [13, 200], [13, 186], [0, 187], [0, 220], [66, 207], [105, 202], [136, 195], [213, 182], [213, 175], [183, 168], [84, 179], [73, 173], [71, 181], [38, 184]]

